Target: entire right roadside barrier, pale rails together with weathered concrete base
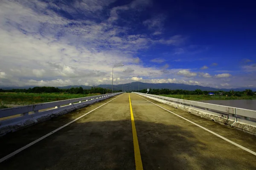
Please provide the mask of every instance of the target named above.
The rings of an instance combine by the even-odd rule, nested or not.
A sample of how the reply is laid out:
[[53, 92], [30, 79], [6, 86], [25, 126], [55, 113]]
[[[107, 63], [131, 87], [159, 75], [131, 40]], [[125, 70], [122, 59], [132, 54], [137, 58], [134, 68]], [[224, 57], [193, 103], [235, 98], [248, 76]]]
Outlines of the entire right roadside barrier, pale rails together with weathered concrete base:
[[204, 102], [133, 92], [183, 111], [256, 135], [256, 111]]

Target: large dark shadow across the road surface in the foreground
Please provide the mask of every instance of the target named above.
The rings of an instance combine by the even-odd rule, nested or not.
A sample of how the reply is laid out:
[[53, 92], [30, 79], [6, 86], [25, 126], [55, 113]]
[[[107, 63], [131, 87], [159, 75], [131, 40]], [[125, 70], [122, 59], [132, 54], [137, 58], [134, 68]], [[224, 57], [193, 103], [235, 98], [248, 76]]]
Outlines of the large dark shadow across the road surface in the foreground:
[[[86, 119], [86, 118], [84, 118]], [[255, 169], [255, 162], [207, 152], [207, 146], [175, 125], [136, 121], [144, 170]], [[1, 137], [19, 143], [22, 131]], [[12, 138], [13, 137], [13, 138]], [[23, 139], [24, 140], [24, 139]], [[220, 144], [221, 145], [221, 144]], [[18, 148], [17, 148], [18, 149]], [[7, 153], [8, 147], [4, 149]], [[244, 163], [245, 162], [245, 163]], [[131, 121], [74, 122], [0, 164], [0, 169], [132, 170], [135, 169]]]

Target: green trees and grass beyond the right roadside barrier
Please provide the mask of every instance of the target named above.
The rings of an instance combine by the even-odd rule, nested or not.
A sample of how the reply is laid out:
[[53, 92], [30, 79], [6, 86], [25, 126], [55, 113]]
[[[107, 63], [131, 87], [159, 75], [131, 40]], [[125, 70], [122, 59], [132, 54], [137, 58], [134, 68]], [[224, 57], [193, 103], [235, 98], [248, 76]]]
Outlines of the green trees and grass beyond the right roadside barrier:
[[[140, 90], [146, 93], [147, 90]], [[215, 95], [208, 95], [213, 93]], [[170, 90], [170, 89], [149, 89], [148, 94], [156, 94], [160, 96], [173, 97], [186, 100], [233, 100], [233, 99], [256, 99], [256, 92], [250, 89], [245, 91], [195, 91], [186, 90]]]

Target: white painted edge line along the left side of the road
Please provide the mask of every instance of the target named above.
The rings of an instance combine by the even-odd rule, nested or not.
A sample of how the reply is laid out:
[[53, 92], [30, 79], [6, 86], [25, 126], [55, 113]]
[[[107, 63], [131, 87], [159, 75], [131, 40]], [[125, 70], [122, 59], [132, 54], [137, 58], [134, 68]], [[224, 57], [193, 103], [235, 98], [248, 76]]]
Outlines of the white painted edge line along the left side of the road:
[[[120, 96], [121, 96], [121, 95], [120, 95]], [[119, 96], [117, 96], [117, 97], [119, 97]], [[117, 97], [116, 97], [116, 98], [117, 98]], [[114, 99], [116, 99], [116, 98], [114, 98]], [[112, 99], [112, 100], [114, 100], [114, 99]], [[111, 101], [112, 101], [112, 100], [111, 100]], [[111, 101], [109, 101], [109, 102], [111, 102]], [[102, 107], [102, 106], [108, 104], [109, 102], [106, 102], [105, 104], [99, 106], [98, 108], [100, 108], [100, 107]], [[37, 143], [37, 142], [43, 140], [44, 138], [46, 138], [46, 137], [52, 135], [53, 133], [55, 133], [55, 132], [57, 132], [57, 131], [63, 129], [64, 127], [70, 125], [71, 123], [76, 122], [77, 120], [81, 119], [82, 117], [84, 117], [84, 116], [86, 116], [87, 114], [89, 114], [89, 113], [95, 111], [95, 110], [98, 109], [98, 108], [95, 108], [95, 109], [93, 109], [92, 111], [89, 111], [89, 112], [85, 113], [84, 115], [82, 115], [82, 116], [80, 116], [80, 117], [78, 117], [78, 118], [72, 120], [71, 122], [67, 123], [66, 125], [63, 125], [63, 126], [59, 127], [58, 129], [55, 129], [55, 130], [53, 130], [52, 132], [50, 132], [50, 133], [48, 133], [48, 134], [42, 136], [41, 138], [39, 138], [39, 139], [37, 139], [37, 140], [35, 140], [35, 141], [33, 141], [33, 142], [27, 144], [26, 146], [21, 147], [21, 148], [18, 149], [18, 150], [15, 150], [14, 152], [10, 153], [9, 155], [6, 155], [5, 157], [3, 157], [3, 158], [0, 159], [0, 163], [1, 163], [2, 161], [5, 161], [6, 159], [11, 158], [12, 156], [15, 156], [17, 153], [21, 152], [22, 150], [25, 150], [26, 148], [32, 146], [33, 144], [35, 144], [35, 143]]]

